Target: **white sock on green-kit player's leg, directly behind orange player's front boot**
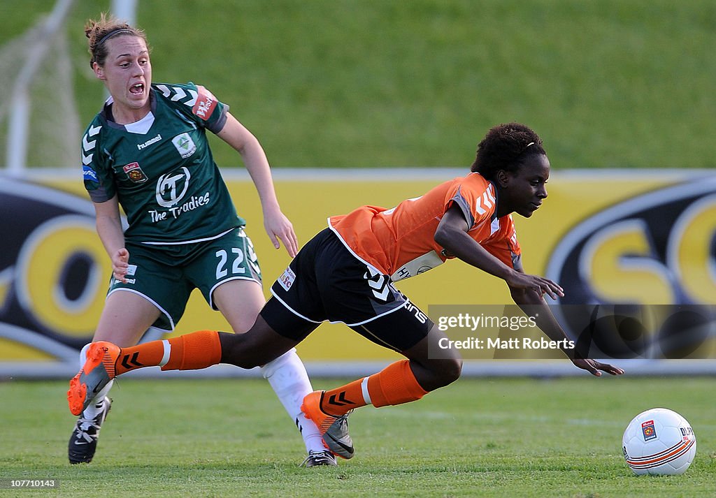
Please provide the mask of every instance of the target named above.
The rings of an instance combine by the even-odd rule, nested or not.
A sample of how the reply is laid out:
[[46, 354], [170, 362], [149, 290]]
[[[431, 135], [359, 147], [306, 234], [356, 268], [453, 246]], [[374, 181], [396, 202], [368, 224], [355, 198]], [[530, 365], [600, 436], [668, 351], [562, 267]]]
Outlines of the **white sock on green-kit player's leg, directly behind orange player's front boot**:
[[261, 374], [269, 381], [291, 420], [299, 428], [306, 451], [324, 451], [326, 447], [318, 427], [301, 412], [301, 403], [306, 394], [313, 392], [313, 387], [296, 349], [292, 348], [274, 361], [266, 363], [261, 367]]

